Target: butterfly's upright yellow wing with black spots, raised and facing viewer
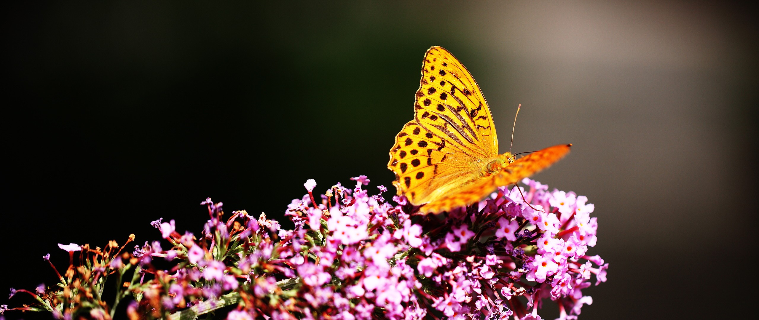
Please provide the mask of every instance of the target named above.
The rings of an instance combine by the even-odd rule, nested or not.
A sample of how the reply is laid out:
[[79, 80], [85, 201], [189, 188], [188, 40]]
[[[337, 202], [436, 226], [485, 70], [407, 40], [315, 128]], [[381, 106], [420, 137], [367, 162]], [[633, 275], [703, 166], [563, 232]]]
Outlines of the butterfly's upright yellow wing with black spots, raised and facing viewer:
[[433, 46], [421, 74], [414, 120], [395, 137], [388, 163], [398, 195], [414, 205], [455, 192], [498, 155], [490, 109], [466, 67]]

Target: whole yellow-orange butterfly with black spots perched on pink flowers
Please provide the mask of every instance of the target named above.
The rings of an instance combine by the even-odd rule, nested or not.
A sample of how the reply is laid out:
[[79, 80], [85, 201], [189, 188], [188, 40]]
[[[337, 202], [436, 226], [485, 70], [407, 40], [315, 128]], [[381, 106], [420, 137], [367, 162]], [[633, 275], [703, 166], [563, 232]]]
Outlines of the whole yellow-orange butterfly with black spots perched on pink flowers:
[[548, 168], [570, 146], [551, 146], [521, 158], [499, 154], [482, 90], [451, 52], [433, 46], [424, 54], [414, 120], [395, 136], [387, 168], [395, 173], [398, 196], [422, 205], [422, 213], [446, 212]]

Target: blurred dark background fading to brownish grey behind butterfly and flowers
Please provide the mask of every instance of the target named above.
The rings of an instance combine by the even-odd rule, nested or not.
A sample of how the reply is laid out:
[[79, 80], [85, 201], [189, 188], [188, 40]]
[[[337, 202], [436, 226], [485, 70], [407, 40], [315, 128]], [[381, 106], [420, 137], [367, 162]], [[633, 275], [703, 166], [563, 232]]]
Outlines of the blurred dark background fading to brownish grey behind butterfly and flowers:
[[391, 196], [387, 152], [442, 45], [483, 89], [501, 152], [520, 103], [515, 152], [575, 144], [535, 178], [596, 205], [609, 281], [581, 319], [741, 315], [756, 301], [755, 9], [4, 3], [0, 290], [54, 284], [56, 243], [156, 240], [158, 218], [199, 232], [206, 196], [279, 219], [307, 179], [323, 192], [366, 174]]

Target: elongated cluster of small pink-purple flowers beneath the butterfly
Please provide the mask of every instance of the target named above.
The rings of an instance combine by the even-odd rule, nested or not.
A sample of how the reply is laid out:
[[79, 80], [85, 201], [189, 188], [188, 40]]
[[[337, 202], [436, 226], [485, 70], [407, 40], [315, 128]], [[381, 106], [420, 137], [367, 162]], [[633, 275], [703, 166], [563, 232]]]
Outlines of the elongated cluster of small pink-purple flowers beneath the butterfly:
[[[587, 254], [597, 219], [585, 196], [525, 179], [528, 189], [500, 187], [473, 205], [424, 215], [404, 197], [386, 201], [383, 186], [370, 195], [365, 176], [351, 180], [355, 187], [336, 184], [317, 196], [308, 180], [308, 193], [285, 212], [292, 230], [263, 213], [225, 215], [221, 202], [206, 199], [209, 220], [197, 237], [159, 219], [152, 224], [165, 241], [131, 254], [113, 241], [106, 249], [61, 245], [71, 257], [61, 284], [11, 289], [39, 303], [9, 310], [109, 319], [120, 300], [131, 300], [132, 319], [228, 307], [228, 319], [524, 320], [540, 319], [550, 300], [560, 319], [575, 319], [592, 303], [582, 293], [591, 278], [606, 281], [609, 265]], [[103, 302], [107, 279], [124, 277], [131, 281], [118, 286], [115, 302]]]

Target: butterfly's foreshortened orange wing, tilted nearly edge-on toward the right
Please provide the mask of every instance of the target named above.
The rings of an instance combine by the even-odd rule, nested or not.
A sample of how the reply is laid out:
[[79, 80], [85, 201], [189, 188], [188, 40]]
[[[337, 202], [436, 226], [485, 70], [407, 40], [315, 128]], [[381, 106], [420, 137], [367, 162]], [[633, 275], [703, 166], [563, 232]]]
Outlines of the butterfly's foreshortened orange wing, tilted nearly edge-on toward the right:
[[532, 152], [506, 166], [498, 174], [480, 177], [458, 186], [457, 192], [446, 193], [430, 201], [420, 208], [421, 212], [444, 212], [470, 205], [492, 193], [496, 187], [514, 184], [538, 171], [553, 165], [569, 152], [569, 145], [551, 146], [537, 152]]

